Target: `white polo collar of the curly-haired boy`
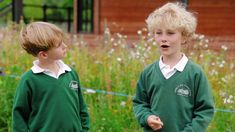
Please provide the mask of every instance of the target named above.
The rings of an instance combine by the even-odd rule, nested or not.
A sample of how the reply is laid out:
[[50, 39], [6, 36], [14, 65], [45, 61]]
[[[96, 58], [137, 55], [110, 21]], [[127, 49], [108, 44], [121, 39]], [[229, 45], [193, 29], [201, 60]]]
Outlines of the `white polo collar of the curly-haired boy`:
[[183, 57], [180, 59], [180, 61], [175, 66], [170, 68], [169, 65], [166, 65], [163, 63], [162, 56], [161, 56], [160, 61], [159, 61], [159, 67], [160, 67], [160, 70], [161, 70], [163, 76], [166, 79], [169, 79], [171, 76], [173, 76], [175, 74], [175, 72], [177, 70], [182, 72], [184, 70], [187, 62], [188, 62], [188, 57], [185, 56], [185, 54], [183, 54]]

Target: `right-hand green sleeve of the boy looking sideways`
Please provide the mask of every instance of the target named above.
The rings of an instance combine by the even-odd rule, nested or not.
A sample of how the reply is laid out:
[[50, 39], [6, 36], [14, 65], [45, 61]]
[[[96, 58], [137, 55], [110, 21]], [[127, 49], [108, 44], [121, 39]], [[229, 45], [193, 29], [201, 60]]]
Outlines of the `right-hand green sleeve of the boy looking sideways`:
[[79, 97], [79, 103], [80, 103], [80, 116], [81, 116], [81, 123], [82, 123], [82, 131], [86, 132], [89, 130], [90, 120], [89, 120], [87, 106], [85, 104], [85, 101], [83, 99], [83, 95], [81, 92], [79, 78], [78, 78], [78, 82], [79, 82], [78, 97]]

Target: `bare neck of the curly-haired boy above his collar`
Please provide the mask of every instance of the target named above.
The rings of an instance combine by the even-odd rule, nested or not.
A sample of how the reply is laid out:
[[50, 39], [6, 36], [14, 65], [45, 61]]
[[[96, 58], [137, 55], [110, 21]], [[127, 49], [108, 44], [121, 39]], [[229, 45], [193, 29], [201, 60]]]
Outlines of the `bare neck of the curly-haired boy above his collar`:
[[183, 53], [180, 53], [178, 55], [172, 55], [172, 56], [162, 56], [162, 62], [166, 65], [169, 65], [170, 68], [172, 68], [180, 61], [182, 57], [183, 57]]

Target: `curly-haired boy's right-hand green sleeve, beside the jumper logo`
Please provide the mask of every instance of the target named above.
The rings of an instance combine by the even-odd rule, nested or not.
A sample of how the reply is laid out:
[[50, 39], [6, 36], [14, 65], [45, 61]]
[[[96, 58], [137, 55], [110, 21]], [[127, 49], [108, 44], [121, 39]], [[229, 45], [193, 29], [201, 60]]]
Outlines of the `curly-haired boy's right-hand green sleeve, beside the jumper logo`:
[[214, 115], [214, 101], [209, 82], [203, 73], [195, 77], [195, 106], [192, 122], [187, 124], [184, 132], [197, 131], [204, 132]]

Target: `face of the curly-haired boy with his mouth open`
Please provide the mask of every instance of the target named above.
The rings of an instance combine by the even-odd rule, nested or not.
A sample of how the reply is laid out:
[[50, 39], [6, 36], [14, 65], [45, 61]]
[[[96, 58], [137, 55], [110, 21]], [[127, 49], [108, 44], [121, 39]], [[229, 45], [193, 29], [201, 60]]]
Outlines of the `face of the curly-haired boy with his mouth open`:
[[177, 56], [181, 53], [181, 44], [184, 42], [179, 30], [158, 28], [155, 31], [155, 40], [163, 56]]

